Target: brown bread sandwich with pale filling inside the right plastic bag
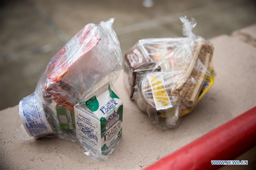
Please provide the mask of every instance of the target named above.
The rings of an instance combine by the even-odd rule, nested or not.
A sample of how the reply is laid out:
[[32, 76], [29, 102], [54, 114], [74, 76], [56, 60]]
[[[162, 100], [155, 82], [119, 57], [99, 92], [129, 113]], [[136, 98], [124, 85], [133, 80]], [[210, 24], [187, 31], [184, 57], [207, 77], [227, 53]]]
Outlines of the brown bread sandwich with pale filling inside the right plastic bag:
[[205, 75], [208, 74], [213, 50], [214, 47], [208, 41], [197, 43], [191, 63], [171, 91], [177, 104], [182, 102], [187, 106], [192, 106], [196, 102], [203, 87]]

